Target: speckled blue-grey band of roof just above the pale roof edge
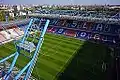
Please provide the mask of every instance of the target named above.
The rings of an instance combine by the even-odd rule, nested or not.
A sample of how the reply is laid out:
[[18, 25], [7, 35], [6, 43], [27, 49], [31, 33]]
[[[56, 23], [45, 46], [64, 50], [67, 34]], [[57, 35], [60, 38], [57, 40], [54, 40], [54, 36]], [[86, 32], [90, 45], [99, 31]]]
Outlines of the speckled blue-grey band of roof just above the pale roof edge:
[[104, 14], [102, 12], [95, 12], [95, 11], [79, 11], [79, 10], [36, 10], [35, 13], [39, 14], [59, 14], [59, 15], [69, 15], [69, 16], [83, 16], [83, 17], [96, 17], [96, 18], [108, 18], [109, 16], [113, 16], [111, 14]]

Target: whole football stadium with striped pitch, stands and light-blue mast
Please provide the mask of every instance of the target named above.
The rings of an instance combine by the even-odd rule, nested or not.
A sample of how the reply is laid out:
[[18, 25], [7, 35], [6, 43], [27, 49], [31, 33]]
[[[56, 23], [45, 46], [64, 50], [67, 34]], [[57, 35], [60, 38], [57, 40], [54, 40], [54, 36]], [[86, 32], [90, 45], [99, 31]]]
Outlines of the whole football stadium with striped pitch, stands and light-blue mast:
[[0, 24], [0, 80], [119, 80], [120, 13], [36, 10]]

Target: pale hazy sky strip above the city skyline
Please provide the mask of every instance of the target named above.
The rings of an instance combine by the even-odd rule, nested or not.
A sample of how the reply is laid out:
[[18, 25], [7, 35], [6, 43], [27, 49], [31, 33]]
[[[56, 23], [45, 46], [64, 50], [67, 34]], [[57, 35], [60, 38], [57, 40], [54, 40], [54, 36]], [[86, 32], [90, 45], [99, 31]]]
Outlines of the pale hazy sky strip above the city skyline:
[[116, 4], [120, 5], [120, 0], [0, 0], [3, 4]]

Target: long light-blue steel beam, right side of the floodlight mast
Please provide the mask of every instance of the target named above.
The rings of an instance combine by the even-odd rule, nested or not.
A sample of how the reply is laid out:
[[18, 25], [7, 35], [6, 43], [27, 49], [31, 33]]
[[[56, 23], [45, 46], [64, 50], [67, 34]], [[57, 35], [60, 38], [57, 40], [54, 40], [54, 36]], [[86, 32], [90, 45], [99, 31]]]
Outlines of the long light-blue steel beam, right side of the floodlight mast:
[[45, 32], [46, 32], [47, 27], [48, 27], [48, 25], [49, 25], [49, 22], [50, 22], [50, 20], [47, 20], [47, 22], [46, 22], [46, 24], [45, 24], [45, 27], [44, 27], [44, 29], [43, 29], [43, 32], [42, 32], [41, 36], [40, 36], [40, 39], [39, 39], [37, 48], [36, 48], [36, 50], [35, 50], [34, 56], [33, 56], [32, 60], [31, 60], [31, 64], [30, 64], [30, 66], [29, 66], [29, 68], [28, 68], [28, 71], [27, 71], [27, 74], [26, 74], [24, 80], [28, 80], [28, 78], [31, 76], [32, 68], [34, 67], [35, 62], [36, 62], [36, 61], [35, 61], [35, 58], [36, 58], [36, 57], [38, 56], [38, 54], [39, 54], [38, 51], [39, 51], [39, 49], [40, 49], [41, 46], [42, 46], [43, 37], [44, 37], [44, 35], [45, 35]]

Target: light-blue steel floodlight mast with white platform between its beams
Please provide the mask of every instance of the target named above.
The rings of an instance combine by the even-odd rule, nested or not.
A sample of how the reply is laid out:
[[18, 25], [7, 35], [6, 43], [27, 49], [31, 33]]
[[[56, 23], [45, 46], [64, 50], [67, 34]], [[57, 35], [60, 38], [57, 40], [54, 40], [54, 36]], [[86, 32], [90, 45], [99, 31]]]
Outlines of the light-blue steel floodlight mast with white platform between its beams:
[[[44, 25], [44, 28], [43, 30], [39, 31], [40, 34], [39, 34], [39, 37], [37, 38], [38, 39], [38, 42], [36, 44], [36, 46], [34, 45], [33, 42], [29, 42], [27, 41], [27, 38], [30, 36], [30, 32], [31, 32], [31, 29], [33, 29], [32, 27], [32, 24], [38, 19], [31, 19], [30, 20], [30, 23], [24, 33], [24, 36], [23, 38], [20, 40], [20, 41], [16, 41], [15, 42], [15, 46], [16, 46], [16, 52], [13, 53], [12, 55], [0, 60], [0, 63], [4, 63], [5, 61], [7, 61], [8, 59], [14, 57], [8, 71], [4, 74], [4, 76], [2, 76], [2, 79], [3, 80], [9, 80], [11, 74], [12, 74], [12, 71], [13, 71], [13, 68], [15, 67], [15, 64], [16, 64], [16, 61], [18, 60], [18, 57], [20, 54], [22, 54], [20, 52], [20, 50], [25, 50], [27, 51], [28, 53], [31, 54], [31, 49], [34, 50], [32, 51], [33, 52], [33, 55], [32, 57], [30, 58], [31, 60], [27, 63], [27, 65], [21, 69], [15, 76], [14, 76], [14, 79], [13, 80], [19, 80], [19, 78], [21, 77], [21, 75], [23, 73], [26, 73], [25, 76], [24, 76], [24, 79], [23, 80], [28, 80], [31, 76], [31, 73], [33, 71], [33, 68], [35, 67], [35, 64], [36, 64], [36, 61], [37, 61], [37, 58], [38, 58], [38, 55], [39, 55], [39, 51], [40, 51], [40, 48], [42, 46], [42, 43], [43, 43], [43, 38], [44, 38], [44, 35], [45, 35], [45, 32], [47, 30], [47, 27], [49, 25], [49, 22], [50, 20], [46, 20], [45, 22], [45, 25]], [[40, 21], [41, 22], [41, 21]], [[39, 26], [40, 27], [40, 26]], [[38, 29], [38, 28], [37, 28]], [[29, 47], [25, 47], [25, 46], [29, 46]]]

